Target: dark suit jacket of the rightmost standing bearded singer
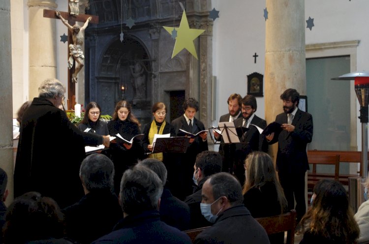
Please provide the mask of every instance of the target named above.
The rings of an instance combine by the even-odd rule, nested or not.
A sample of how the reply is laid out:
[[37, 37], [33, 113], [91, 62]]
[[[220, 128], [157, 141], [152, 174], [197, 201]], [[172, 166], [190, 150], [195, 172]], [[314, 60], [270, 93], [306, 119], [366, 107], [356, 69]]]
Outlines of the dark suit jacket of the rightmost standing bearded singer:
[[[276, 122], [287, 123], [287, 114], [277, 115]], [[269, 144], [278, 142], [277, 171], [304, 173], [309, 169], [306, 147], [312, 140], [312, 116], [298, 109], [292, 125], [295, 126], [293, 132], [282, 130]]]

